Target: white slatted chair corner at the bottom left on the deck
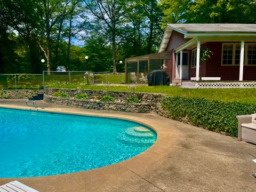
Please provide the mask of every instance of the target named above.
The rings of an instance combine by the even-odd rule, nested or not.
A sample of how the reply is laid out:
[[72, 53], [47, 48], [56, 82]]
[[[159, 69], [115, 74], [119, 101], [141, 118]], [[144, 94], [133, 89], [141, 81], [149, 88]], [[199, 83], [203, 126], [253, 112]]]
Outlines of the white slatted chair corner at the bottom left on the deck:
[[24, 185], [23, 183], [19, 182], [19, 181], [12, 181], [9, 183], [6, 183], [5, 185], [0, 186], [0, 191], [4, 191], [4, 192], [13, 192], [13, 191], [17, 191], [17, 192], [39, 192], [38, 190], [35, 190], [31, 187], [28, 187], [26, 185]]

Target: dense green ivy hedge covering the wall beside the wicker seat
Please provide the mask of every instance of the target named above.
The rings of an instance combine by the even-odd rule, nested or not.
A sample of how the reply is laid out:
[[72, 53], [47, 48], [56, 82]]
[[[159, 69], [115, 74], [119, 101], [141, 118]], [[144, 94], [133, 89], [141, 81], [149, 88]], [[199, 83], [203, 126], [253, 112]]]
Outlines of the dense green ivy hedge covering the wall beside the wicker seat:
[[256, 113], [252, 103], [222, 102], [203, 98], [167, 97], [162, 108], [174, 119], [186, 119], [207, 130], [226, 132], [237, 137], [236, 115]]

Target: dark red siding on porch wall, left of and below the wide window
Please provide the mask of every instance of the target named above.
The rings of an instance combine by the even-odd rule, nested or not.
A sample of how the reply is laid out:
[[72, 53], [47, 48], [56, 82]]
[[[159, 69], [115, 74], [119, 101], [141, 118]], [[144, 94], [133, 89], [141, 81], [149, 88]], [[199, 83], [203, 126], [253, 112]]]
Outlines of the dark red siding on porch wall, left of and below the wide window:
[[[211, 59], [207, 60], [206, 77], [221, 77], [221, 80], [238, 81], [239, 66], [221, 66], [222, 43], [208, 42], [207, 47], [213, 52], [213, 55]], [[256, 80], [255, 74], [256, 66], [244, 65], [243, 80]]]

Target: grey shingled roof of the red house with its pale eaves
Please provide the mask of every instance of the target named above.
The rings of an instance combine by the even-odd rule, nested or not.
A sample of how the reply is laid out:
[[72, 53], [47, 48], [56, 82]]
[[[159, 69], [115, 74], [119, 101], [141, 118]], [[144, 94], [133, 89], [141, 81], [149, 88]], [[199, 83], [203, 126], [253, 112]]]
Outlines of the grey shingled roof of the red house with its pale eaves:
[[168, 24], [165, 28], [159, 52], [166, 49], [172, 31], [178, 31], [184, 38], [192, 38], [190, 43], [201, 41], [226, 41], [254, 40], [256, 37], [256, 24]]

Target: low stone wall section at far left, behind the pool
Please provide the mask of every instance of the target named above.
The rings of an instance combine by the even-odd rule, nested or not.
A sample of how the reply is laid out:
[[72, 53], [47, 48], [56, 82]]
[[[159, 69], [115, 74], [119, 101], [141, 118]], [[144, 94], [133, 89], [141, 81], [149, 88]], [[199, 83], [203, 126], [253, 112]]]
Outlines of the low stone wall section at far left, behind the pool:
[[44, 90], [0, 90], [0, 99], [28, 99]]

